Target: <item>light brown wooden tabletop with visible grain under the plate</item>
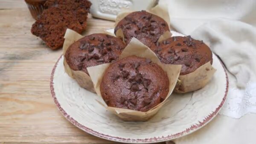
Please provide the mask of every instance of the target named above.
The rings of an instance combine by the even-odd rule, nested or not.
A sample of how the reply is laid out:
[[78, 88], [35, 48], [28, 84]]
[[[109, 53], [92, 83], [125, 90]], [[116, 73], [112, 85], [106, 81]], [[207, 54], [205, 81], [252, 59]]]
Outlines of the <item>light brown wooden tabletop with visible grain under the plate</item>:
[[[0, 144], [117, 144], [79, 130], [58, 111], [49, 81], [62, 52], [30, 33], [34, 22], [23, 0], [0, 0]], [[112, 27], [90, 17], [84, 35]]]

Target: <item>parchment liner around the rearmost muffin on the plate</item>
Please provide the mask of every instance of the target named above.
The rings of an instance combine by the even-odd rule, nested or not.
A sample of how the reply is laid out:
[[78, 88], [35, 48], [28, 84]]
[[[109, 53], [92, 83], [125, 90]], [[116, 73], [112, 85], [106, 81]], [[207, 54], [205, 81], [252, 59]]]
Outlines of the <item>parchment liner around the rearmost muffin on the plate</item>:
[[[169, 12], [168, 12], [168, 7], [166, 6], [160, 6], [160, 5], [157, 5], [155, 6], [154, 8], [150, 9], [150, 10], [146, 10], [147, 12], [151, 13], [151, 14], [155, 14], [157, 15], [158, 17], [161, 17], [163, 18], [163, 20], [166, 21], [166, 23], [168, 24], [169, 26], [169, 29], [170, 29], [170, 17], [169, 17]], [[122, 12], [120, 12], [117, 17], [116, 17], [116, 23], [115, 23], [115, 26], [119, 23], [120, 20], [122, 20], [123, 18], [125, 18], [128, 14], [132, 13], [134, 11], [131, 11], [131, 10], [123, 10]], [[169, 32], [169, 31], [166, 31], [166, 32]], [[169, 34], [171, 34], [169, 32]], [[116, 31], [116, 37], [122, 37], [123, 41], [124, 41], [124, 35], [123, 35], [123, 32], [122, 32], [122, 29], [118, 29]], [[125, 42], [125, 41], [124, 41]]]

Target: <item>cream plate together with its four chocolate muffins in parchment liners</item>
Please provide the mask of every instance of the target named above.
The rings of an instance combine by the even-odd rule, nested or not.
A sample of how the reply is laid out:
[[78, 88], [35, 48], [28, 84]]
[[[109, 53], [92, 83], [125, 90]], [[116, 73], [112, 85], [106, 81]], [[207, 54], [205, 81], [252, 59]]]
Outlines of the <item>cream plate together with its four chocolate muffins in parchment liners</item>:
[[124, 12], [114, 29], [67, 29], [51, 76], [58, 109], [99, 138], [172, 140], [203, 127], [227, 96], [226, 70], [209, 46], [170, 31], [166, 9]]

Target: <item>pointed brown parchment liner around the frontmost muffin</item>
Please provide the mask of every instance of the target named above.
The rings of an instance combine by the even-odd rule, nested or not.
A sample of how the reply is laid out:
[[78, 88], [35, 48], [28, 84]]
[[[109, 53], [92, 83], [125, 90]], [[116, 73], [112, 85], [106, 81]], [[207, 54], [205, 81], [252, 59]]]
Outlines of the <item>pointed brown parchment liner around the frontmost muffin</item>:
[[[121, 59], [131, 55], [136, 55], [138, 57], [143, 57], [143, 58], [150, 58], [152, 62], [157, 63], [167, 73], [169, 78], [169, 93], [166, 97], [167, 99], [171, 95], [173, 89], [175, 88], [177, 79], [180, 75], [181, 65], [169, 65], [169, 64], [161, 63], [160, 60], [157, 58], [157, 55], [155, 55], [154, 52], [151, 51], [151, 49], [149, 49], [147, 46], [145, 46], [143, 43], [141, 43], [139, 40], [137, 40], [134, 37], [132, 38], [131, 42], [126, 46], [126, 48], [123, 50], [119, 58]], [[96, 90], [96, 93], [99, 96], [101, 96], [100, 84], [102, 82], [102, 77], [109, 65], [110, 63], [105, 63], [102, 65], [92, 66], [87, 68], [90, 74], [90, 77], [93, 81], [93, 85]], [[166, 99], [162, 103], [158, 104], [156, 107], [148, 110], [148, 112], [139, 112], [139, 111], [130, 110], [130, 109], [108, 107], [105, 104], [105, 102], [100, 102], [100, 101], [98, 102], [124, 121], [147, 121], [157, 113], [157, 111], [166, 102]]]

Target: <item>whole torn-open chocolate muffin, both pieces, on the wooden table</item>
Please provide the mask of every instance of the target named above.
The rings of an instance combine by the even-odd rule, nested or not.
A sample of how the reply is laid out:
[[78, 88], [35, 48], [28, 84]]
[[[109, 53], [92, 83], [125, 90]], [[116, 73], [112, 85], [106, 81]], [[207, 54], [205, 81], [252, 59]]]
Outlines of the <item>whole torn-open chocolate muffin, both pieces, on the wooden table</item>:
[[[54, 2], [54, 3], [52, 3]], [[63, 46], [67, 29], [82, 33], [86, 28], [88, 0], [47, 0], [47, 9], [32, 25], [33, 35], [40, 37], [51, 49]]]

